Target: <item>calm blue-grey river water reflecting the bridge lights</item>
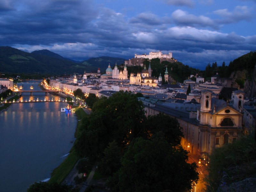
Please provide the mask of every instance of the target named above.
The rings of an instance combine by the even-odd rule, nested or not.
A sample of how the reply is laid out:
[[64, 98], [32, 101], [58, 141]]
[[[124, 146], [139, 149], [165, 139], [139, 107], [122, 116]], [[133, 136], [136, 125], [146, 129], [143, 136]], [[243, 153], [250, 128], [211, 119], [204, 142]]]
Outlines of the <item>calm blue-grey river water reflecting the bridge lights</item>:
[[[22, 84], [24, 90], [30, 90], [29, 83]], [[33, 90], [40, 90], [39, 82], [33, 83]], [[23, 100], [37, 98], [60, 97], [22, 94]], [[63, 162], [73, 146], [77, 123], [74, 113], [60, 112], [66, 104], [15, 103], [0, 114], [0, 192], [26, 192], [34, 182], [49, 179], [53, 169]]]

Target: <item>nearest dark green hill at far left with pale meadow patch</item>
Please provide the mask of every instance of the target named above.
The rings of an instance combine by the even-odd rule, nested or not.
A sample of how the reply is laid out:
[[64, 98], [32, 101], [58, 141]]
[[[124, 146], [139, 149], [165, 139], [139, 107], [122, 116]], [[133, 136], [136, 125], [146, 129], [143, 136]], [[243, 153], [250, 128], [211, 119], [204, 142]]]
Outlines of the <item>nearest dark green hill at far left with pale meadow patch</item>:
[[87, 68], [82, 63], [0, 47], [0, 70], [3, 73], [61, 75], [83, 73]]

